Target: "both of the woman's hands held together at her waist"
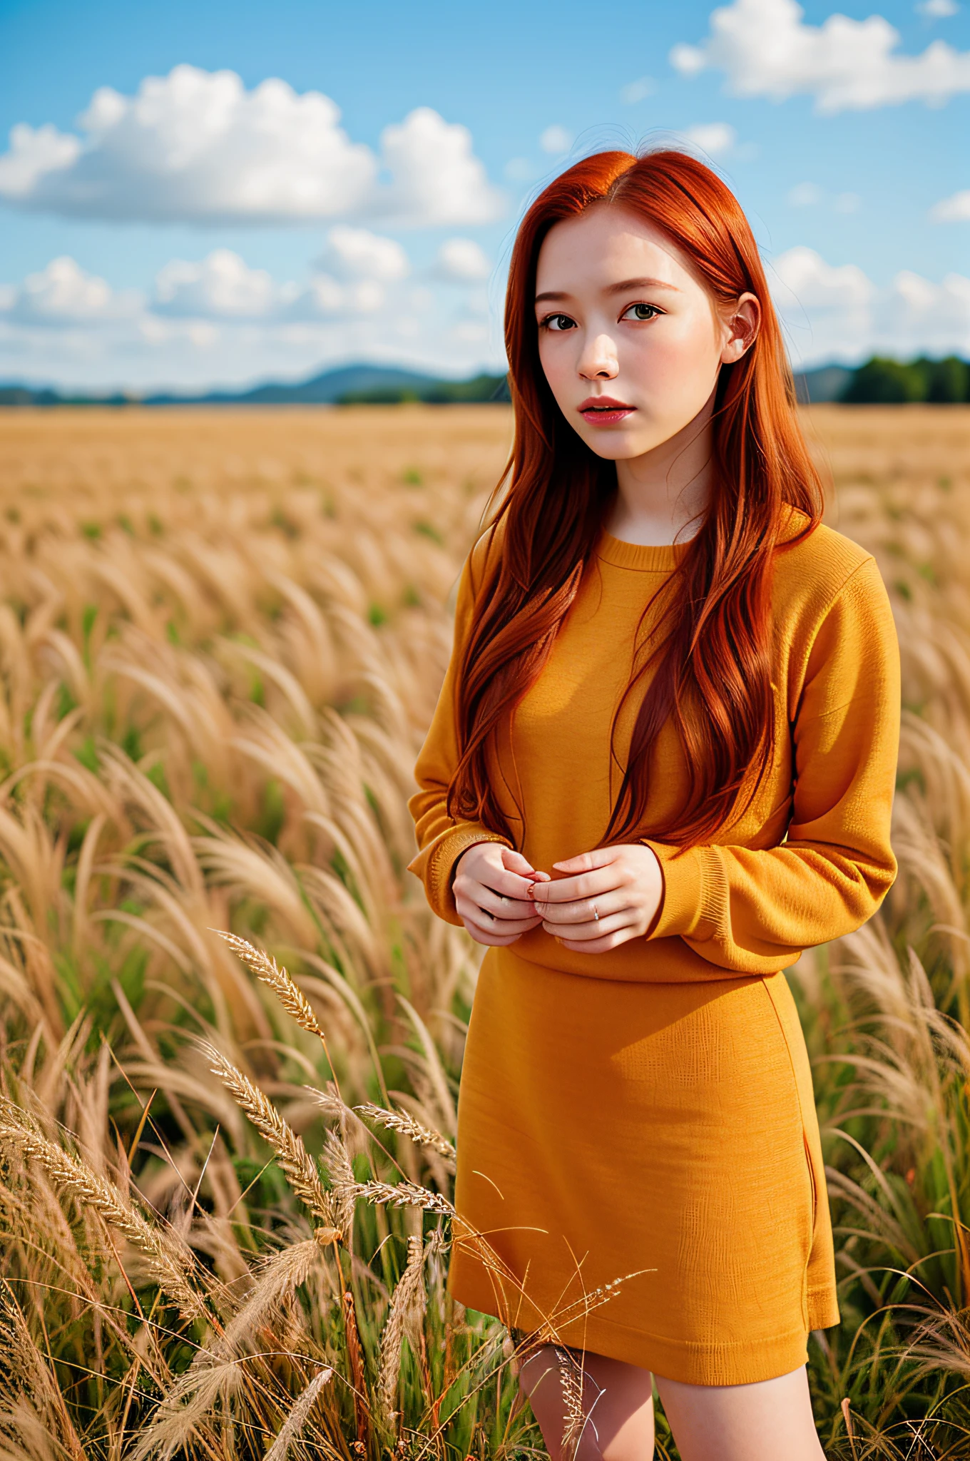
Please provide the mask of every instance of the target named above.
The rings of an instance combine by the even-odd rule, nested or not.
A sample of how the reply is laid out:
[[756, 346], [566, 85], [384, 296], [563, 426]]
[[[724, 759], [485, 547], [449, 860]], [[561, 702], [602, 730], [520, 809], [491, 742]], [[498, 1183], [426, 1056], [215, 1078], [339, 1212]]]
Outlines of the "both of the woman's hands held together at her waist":
[[564, 948], [605, 954], [650, 928], [663, 897], [663, 874], [652, 847], [618, 843], [552, 866], [562, 874], [555, 881], [498, 842], [463, 852], [454, 872], [454, 906], [472, 938], [504, 948], [543, 928]]

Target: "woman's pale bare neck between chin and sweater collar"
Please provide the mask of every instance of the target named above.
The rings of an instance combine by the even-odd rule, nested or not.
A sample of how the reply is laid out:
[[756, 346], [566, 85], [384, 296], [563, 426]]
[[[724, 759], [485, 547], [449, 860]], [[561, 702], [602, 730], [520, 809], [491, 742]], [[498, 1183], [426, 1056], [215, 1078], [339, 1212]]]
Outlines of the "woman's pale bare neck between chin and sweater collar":
[[713, 397], [676, 435], [643, 456], [616, 462], [616, 500], [606, 519], [608, 533], [644, 546], [694, 536], [713, 489], [711, 409]]

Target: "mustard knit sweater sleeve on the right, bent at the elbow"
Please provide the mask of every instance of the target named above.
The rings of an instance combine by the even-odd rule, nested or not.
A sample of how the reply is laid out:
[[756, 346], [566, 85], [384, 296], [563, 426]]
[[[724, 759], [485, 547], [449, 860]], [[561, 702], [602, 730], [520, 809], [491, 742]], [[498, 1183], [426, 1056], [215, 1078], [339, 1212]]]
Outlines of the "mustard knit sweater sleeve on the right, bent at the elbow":
[[872, 557], [814, 633], [790, 735], [792, 815], [779, 846], [681, 852], [643, 839], [665, 882], [649, 939], [679, 935], [720, 970], [767, 974], [859, 928], [893, 885], [900, 655]]

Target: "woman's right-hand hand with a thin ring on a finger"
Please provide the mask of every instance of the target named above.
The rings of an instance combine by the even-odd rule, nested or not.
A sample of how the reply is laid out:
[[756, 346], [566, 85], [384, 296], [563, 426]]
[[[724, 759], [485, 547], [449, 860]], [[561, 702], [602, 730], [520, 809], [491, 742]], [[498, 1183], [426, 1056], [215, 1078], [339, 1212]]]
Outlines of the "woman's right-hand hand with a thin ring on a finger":
[[552, 866], [568, 877], [536, 884], [532, 896], [546, 934], [577, 954], [605, 954], [640, 938], [660, 907], [660, 863], [641, 843], [597, 847]]

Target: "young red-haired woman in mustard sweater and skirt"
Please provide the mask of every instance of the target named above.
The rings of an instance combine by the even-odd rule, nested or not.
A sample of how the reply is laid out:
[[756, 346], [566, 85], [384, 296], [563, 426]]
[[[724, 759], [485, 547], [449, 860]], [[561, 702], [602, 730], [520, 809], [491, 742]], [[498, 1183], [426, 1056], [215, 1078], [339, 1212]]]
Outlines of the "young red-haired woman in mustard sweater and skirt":
[[[758, 251], [700, 162], [549, 184], [505, 339], [507, 491], [410, 804], [431, 906], [488, 945], [451, 1290], [581, 1356], [580, 1461], [652, 1455], [652, 1378], [684, 1461], [809, 1461], [839, 1311], [782, 970], [895, 877], [887, 593], [820, 523]], [[557, 1457], [548, 1344], [522, 1382]]]

